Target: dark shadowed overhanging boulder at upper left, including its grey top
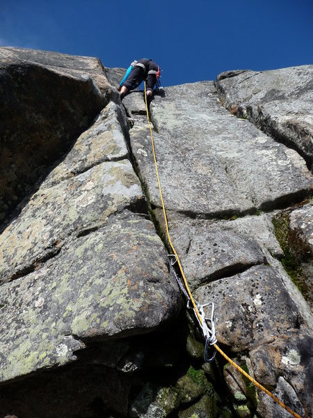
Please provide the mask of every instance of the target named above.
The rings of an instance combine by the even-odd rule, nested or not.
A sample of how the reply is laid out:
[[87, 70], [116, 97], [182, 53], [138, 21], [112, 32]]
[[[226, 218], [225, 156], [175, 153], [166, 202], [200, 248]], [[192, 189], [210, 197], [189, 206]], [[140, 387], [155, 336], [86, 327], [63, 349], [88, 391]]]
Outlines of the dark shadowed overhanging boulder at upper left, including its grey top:
[[86, 130], [108, 102], [110, 86], [95, 59], [7, 47], [0, 57], [3, 219]]

